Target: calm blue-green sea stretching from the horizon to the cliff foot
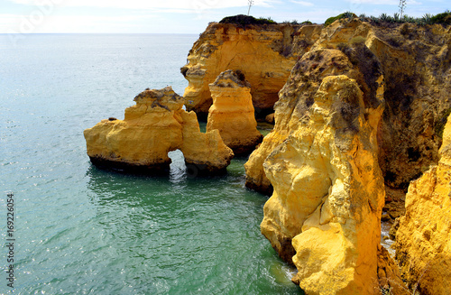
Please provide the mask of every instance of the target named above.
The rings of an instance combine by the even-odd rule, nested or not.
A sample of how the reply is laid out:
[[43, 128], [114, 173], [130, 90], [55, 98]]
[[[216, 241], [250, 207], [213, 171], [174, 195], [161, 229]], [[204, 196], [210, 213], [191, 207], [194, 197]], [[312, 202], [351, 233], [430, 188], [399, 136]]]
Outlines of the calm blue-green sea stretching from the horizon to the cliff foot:
[[[299, 294], [260, 234], [246, 159], [192, 179], [99, 171], [83, 130], [172, 86], [197, 35], [0, 34], [0, 269], [14, 193], [14, 294]], [[13, 294], [0, 273], [0, 293]]]

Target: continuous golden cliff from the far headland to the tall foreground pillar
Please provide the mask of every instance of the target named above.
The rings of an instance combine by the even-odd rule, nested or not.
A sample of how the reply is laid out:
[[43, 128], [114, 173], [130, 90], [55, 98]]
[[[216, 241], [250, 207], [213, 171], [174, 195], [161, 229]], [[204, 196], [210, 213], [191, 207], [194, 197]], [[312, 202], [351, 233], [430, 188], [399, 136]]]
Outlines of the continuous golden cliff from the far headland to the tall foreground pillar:
[[[276, 51], [269, 45], [274, 40], [281, 40]], [[279, 74], [287, 67], [290, 76]], [[212, 23], [182, 68], [189, 108], [205, 112], [211, 104], [207, 84], [226, 69], [244, 72], [259, 110], [277, 100], [277, 91], [267, 95], [271, 83], [265, 81], [280, 77], [285, 83], [271, 86], [281, 88], [274, 129], [244, 166], [246, 186], [272, 194], [262, 233], [296, 264], [294, 281], [313, 294], [373, 293], [377, 284], [404, 292], [378, 245], [383, 197], [386, 216], [400, 217], [410, 180], [438, 161], [451, 111], [449, 26], [358, 18], [328, 26]], [[442, 164], [428, 171], [429, 178]], [[409, 274], [410, 284], [423, 269]]]

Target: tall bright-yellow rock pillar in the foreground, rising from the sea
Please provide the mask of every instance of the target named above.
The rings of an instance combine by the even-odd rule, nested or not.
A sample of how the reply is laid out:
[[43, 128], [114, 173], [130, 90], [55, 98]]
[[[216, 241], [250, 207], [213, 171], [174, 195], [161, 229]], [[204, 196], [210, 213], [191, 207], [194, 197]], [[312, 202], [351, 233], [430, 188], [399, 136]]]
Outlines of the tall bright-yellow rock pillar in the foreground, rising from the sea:
[[323, 78], [312, 98], [298, 128], [264, 161], [274, 193], [262, 234], [282, 257], [294, 250], [293, 281], [308, 294], [373, 294], [384, 201], [373, 125], [383, 98], [365, 106], [344, 75]]

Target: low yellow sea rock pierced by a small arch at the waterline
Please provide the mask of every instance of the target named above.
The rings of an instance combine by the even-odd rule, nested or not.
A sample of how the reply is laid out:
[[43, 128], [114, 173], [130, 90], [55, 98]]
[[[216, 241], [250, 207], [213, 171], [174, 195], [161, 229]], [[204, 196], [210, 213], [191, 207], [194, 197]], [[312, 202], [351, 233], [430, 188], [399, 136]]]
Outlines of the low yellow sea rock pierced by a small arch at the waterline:
[[172, 88], [145, 90], [125, 109], [124, 120], [102, 120], [86, 129], [87, 154], [101, 167], [144, 173], [169, 171], [168, 152], [181, 150], [198, 172], [224, 171], [234, 153], [217, 130], [202, 134], [197, 116], [182, 109]]

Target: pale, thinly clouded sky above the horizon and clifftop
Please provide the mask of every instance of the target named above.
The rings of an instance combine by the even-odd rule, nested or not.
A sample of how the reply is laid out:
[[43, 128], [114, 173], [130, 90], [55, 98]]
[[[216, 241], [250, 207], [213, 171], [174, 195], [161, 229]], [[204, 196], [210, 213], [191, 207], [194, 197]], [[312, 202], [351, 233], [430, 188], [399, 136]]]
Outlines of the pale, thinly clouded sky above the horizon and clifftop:
[[[247, 14], [248, 0], [0, 0], [0, 33], [200, 33], [210, 22]], [[398, 13], [400, 0], [254, 0], [250, 15], [324, 23], [351, 11]], [[451, 9], [449, 0], [407, 0], [405, 14]]]

